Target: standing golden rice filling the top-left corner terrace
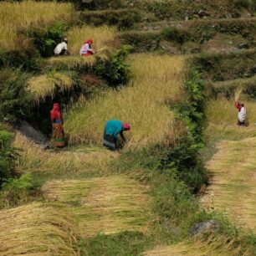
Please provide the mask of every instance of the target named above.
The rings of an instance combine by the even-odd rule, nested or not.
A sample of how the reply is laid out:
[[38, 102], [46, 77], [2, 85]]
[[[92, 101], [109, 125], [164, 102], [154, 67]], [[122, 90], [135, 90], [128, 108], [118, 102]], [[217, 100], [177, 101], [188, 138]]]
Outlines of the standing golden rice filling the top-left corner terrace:
[[74, 13], [70, 3], [56, 2], [5, 2], [0, 3], [0, 46], [13, 50], [21, 48], [23, 42], [18, 32], [28, 29], [31, 25], [44, 26], [53, 21], [67, 21]]

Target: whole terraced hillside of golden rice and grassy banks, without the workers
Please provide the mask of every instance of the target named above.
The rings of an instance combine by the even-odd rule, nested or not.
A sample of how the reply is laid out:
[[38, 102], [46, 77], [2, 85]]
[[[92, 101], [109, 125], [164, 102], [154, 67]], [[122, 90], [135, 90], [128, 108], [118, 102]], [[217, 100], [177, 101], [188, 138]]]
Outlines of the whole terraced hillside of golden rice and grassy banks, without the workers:
[[[82, 12], [71, 3], [0, 3], [1, 81], [16, 68], [24, 75], [33, 124], [64, 98], [69, 136], [63, 150], [45, 151], [8, 128], [21, 149], [15, 172], [38, 184], [33, 192], [3, 186], [0, 256], [256, 255], [255, 4], [180, 2], [96, 0]], [[42, 38], [58, 38], [57, 28], [69, 38], [69, 56], [47, 55], [49, 41], [42, 50]], [[84, 35], [97, 49], [88, 58], [79, 57]], [[99, 70], [115, 62], [122, 44], [133, 46], [131, 77], [113, 89]], [[12, 59], [16, 49], [22, 54]], [[190, 78], [193, 69], [199, 82]], [[201, 133], [199, 122], [190, 122], [202, 117], [200, 100], [210, 186], [199, 200], [192, 193], [204, 187], [203, 175], [189, 167], [200, 165], [192, 138]], [[246, 127], [236, 125], [234, 100], [247, 107]], [[131, 123], [120, 151], [101, 146], [109, 119]], [[183, 156], [186, 149], [197, 154]], [[218, 230], [191, 237], [189, 228], [210, 218]]]

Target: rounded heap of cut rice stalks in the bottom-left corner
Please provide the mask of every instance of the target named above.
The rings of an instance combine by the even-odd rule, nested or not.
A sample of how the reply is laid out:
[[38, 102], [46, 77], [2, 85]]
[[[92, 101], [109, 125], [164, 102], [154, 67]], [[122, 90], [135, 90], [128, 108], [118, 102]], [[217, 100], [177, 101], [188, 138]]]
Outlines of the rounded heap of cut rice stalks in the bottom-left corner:
[[0, 211], [0, 255], [75, 256], [78, 228], [67, 212], [36, 202]]

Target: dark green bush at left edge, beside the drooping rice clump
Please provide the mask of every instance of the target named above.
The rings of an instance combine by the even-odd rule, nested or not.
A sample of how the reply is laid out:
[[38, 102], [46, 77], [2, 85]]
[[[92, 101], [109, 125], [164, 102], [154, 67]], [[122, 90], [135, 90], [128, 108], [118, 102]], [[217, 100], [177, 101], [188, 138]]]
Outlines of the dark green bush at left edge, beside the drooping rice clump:
[[15, 122], [29, 115], [27, 80], [28, 74], [19, 69], [3, 69], [0, 72], [0, 120]]

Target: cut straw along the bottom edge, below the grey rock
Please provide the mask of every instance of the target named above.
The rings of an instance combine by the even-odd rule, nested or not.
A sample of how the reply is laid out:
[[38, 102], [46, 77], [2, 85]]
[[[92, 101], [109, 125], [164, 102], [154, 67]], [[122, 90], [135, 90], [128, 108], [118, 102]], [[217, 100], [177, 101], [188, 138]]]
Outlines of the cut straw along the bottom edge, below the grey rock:
[[207, 240], [193, 238], [175, 245], [162, 246], [143, 253], [144, 256], [246, 256], [234, 241], [224, 237], [210, 237]]

